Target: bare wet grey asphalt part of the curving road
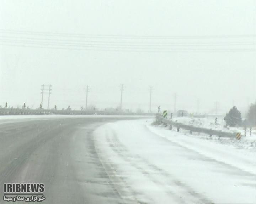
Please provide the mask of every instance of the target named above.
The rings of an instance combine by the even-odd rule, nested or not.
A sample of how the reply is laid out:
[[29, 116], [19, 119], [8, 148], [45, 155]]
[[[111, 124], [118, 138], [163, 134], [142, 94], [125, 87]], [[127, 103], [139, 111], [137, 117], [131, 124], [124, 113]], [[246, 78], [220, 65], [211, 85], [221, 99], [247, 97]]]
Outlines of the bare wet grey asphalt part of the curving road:
[[[92, 132], [132, 118], [61, 118], [0, 126], [0, 203], [4, 183], [44, 183], [43, 203], [122, 203], [95, 150]], [[25, 203], [19, 201], [18, 203]]]

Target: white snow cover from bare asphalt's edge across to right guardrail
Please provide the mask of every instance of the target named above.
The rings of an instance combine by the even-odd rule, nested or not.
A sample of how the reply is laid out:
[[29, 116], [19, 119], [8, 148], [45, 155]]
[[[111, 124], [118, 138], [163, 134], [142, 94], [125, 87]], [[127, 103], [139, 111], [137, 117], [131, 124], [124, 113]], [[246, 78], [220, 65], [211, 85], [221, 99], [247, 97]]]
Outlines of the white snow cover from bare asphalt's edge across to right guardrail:
[[255, 146], [241, 148], [152, 121], [107, 123], [94, 132], [98, 155], [124, 203], [255, 203]]

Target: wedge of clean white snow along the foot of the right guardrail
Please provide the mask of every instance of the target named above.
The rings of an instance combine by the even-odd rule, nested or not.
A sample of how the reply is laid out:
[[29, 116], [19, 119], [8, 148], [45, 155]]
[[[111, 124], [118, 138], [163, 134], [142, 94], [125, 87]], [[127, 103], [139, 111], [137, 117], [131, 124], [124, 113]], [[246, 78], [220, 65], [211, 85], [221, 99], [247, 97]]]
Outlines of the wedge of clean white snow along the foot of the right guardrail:
[[[152, 121], [151, 121], [152, 122]], [[164, 126], [151, 126], [146, 124], [150, 131], [166, 138], [179, 145], [193, 149], [207, 157], [215, 158], [221, 162], [243, 169], [252, 174], [256, 174], [255, 169], [255, 141], [247, 143], [242, 139], [210, 137], [205, 134], [189, 134], [187, 130], [176, 131], [175, 128], [169, 130]], [[241, 144], [242, 143], [242, 144]], [[242, 163], [241, 163], [242, 161]]]

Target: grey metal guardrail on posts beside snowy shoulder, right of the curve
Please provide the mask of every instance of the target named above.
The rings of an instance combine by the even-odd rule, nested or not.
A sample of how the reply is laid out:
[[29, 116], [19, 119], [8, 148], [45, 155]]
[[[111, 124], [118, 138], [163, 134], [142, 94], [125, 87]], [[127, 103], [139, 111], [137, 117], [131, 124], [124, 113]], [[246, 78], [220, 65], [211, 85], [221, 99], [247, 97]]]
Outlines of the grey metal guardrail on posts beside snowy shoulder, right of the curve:
[[[186, 125], [186, 124], [182, 124], [182, 123], [177, 123], [177, 122], [173, 122], [171, 120], [168, 120], [167, 118], [162, 117], [160, 114], [156, 114], [156, 120], [161, 121], [162, 123], [165, 124], [169, 124], [170, 127], [175, 126], [178, 128], [178, 130], [181, 129], [185, 129], [185, 130], [190, 130], [190, 132], [201, 132], [207, 135], [215, 135], [215, 136], [219, 136], [219, 137], [229, 137], [229, 138], [237, 138], [238, 136], [238, 132], [223, 132], [223, 131], [218, 131], [218, 130], [212, 130], [212, 129], [206, 129], [206, 128], [199, 128], [199, 127], [195, 127], [192, 125]], [[240, 138], [238, 138], [240, 139]]]

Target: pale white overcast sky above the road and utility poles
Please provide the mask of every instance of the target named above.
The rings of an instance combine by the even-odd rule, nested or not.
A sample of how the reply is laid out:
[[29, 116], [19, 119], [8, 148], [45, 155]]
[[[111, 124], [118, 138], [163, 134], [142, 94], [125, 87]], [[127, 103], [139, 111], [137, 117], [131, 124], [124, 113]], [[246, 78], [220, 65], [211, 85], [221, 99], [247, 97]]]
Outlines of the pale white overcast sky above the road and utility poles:
[[[226, 112], [255, 102], [255, 0], [1, 0], [1, 98]], [[47, 106], [44, 97], [43, 106]]]

